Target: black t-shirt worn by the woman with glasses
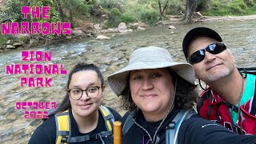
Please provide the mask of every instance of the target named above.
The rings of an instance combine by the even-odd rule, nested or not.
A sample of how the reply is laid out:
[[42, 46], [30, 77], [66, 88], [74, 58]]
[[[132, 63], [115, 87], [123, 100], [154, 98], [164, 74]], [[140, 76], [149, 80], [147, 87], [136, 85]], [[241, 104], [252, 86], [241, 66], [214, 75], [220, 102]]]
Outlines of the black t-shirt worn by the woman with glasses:
[[[109, 108], [110, 112], [114, 115], [115, 121], [121, 121], [122, 117], [118, 112]], [[71, 126], [71, 137], [83, 136], [83, 135], [90, 135], [90, 134], [98, 134], [102, 131], [107, 131], [106, 124], [104, 122], [104, 118], [102, 117], [101, 112], [98, 110], [99, 117], [98, 117], [98, 125], [96, 129], [92, 130], [90, 133], [82, 134], [78, 130], [78, 125], [74, 120], [72, 110], [69, 110], [70, 114], [70, 126]], [[111, 136], [104, 137], [102, 140], [106, 144], [113, 144], [113, 138]], [[94, 141], [87, 141], [87, 142], [79, 142], [79, 143], [90, 143], [90, 144], [102, 144], [102, 140], [99, 138]], [[43, 122], [41, 126], [34, 131], [34, 134], [30, 138], [29, 144], [54, 144], [56, 143], [56, 124], [55, 124], [55, 117], [52, 116]]]

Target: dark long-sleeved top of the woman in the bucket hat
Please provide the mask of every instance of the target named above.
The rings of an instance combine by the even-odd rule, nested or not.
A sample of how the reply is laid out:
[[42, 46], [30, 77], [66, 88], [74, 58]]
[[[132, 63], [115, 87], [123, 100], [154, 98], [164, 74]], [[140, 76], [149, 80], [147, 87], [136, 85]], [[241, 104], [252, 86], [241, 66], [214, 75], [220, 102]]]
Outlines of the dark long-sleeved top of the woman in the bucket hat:
[[[168, 114], [166, 121], [163, 122], [160, 127], [157, 137], [158, 144], [166, 143], [166, 126], [172, 122], [174, 116], [178, 114], [178, 109], [172, 110]], [[125, 123], [129, 114], [126, 113], [122, 119], [122, 123]], [[146, 122], [142, 116], [142, 112], [139, 111], [135, 116], [136, 122], [149, 131], [151, 137], [153, 137], [155, 130], [157, 130], [159, 122]], [[126, 135], [122, 136], [123, 144], [141, 144], [149, 142], [149, 136], [142, 128], [134, 124], [130, 127], [130, 130]], [[234, 134], [225, 127], [220, 126], [214, 122], [210, 122], [204, 118], [201, 118], [198, 114], [194, 114], [190, 118], [184, 120], [180, 129], [178, 130], [178, 144], [254, 144], [256, 143], [256, 135], [238, 135]]]

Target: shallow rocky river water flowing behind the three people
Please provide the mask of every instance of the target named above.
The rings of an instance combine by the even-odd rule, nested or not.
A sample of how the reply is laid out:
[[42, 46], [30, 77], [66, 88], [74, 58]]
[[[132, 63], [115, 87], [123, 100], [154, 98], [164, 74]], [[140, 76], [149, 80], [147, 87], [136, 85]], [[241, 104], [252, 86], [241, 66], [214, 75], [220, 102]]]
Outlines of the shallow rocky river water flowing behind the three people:
[[[100, 67], [104, 78], [126, 66], [132, 51], [139, 47], [159, 46], [166, 48], [175, 61], [186, 62], [182, 54], [182, 38], [188, 30], [196, 26], [207, 26], [217, 30], [227, 47], [237, 59], [237, 66], [256, 67], [256, 20], [210, 21], [193, 25], [159, 26], [128, 34], [108, 34], [111, 38], [99, 41], [87, 38], [79, 42], [65, 42], [53, 46], [41, 46], [26, 50], [51, 51], [51, 62], [29, 62], [33, 64], [63, 64], [69, 71], [76, 63], [94, 63]], [[22, 87], [21, 77], [38, 77], [27, 74], [6, 74], [6, 65], [22, 64], [21, 50], [0, 54], [0, 143], [27, 143], [41, 121], [24, 118], [25, 110], [17, 110], [16, 102], [57, 102], [65, 94], [67, 75], [42, 75], [53, 79], [51, 87]], [[110, 106], [124, 114], [119, 99], [106, 83], [103, 105]]]

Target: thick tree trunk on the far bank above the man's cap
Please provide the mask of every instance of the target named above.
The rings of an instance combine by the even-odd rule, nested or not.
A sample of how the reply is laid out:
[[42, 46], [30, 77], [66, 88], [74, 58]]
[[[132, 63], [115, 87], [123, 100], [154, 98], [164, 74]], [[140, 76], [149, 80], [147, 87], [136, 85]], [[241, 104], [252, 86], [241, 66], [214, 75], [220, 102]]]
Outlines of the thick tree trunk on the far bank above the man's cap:
[[194, 14], [194, 10], [197, 7], [196, 0], [187, 0], [186, 1], [186, 13], [185, 13], [185, 23], [192, 23], [192, 16]]

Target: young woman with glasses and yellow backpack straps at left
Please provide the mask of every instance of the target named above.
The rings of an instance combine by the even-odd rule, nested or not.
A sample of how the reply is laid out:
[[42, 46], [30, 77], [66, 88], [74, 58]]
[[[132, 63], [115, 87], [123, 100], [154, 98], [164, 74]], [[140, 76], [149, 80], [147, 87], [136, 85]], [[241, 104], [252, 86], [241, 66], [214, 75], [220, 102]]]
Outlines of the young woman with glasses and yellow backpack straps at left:
[[49, 115], [29, 143], [113, 143], [111, 124], [121, 120], [101, 106], [104, 79], [98, 67], [79, 63], [70, 71], [67, 90], [58, 109]]

